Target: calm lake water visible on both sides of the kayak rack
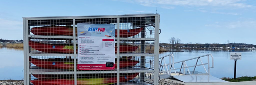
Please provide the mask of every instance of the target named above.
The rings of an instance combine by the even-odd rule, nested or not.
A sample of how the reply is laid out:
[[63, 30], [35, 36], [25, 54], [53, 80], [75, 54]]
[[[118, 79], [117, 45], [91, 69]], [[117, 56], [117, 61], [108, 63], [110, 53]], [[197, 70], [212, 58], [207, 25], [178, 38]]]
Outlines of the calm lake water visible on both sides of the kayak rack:
[[[174, 54], [174, 61], [182, 61], [189, 58], [212, 54], [214, 57], [214, 68], [211, 68], [210, 74], [217, 78], [233, 77], [234, 61], [229, 60], [230, 52], [242, 52], [242, 60], [237, 61], [237, 77], [240, 76], [256, 76], [256, 51], [248, 50], [188, 50], [180, 49], [185, 52], [161, 52], [159, 56], [170, 53]], [[24, 78], [22, 48], [0, 48], [0, 80], [14, 79], [22, 80]], [[195, 60], [196, 61], [196, 60]], [[195, 61], [186, 62], [187, 65], [195, 65]], [[203, 63], [207, 63], [207, 58], [202, 58]], [[167, 62], [168, 63], [168, 62]], [[200, 62], [199, 62], [200, 64]], [[176, 65], [175, 68], [179, 68]], [[207, 67], [207, 66], [205, 66]], [[187, 70], [187, 69], [186, 69]], [[193, 70], [190, 68], [190, 71]], [[205, 72], [202, 66], [198, 66], [196, 71]]]

